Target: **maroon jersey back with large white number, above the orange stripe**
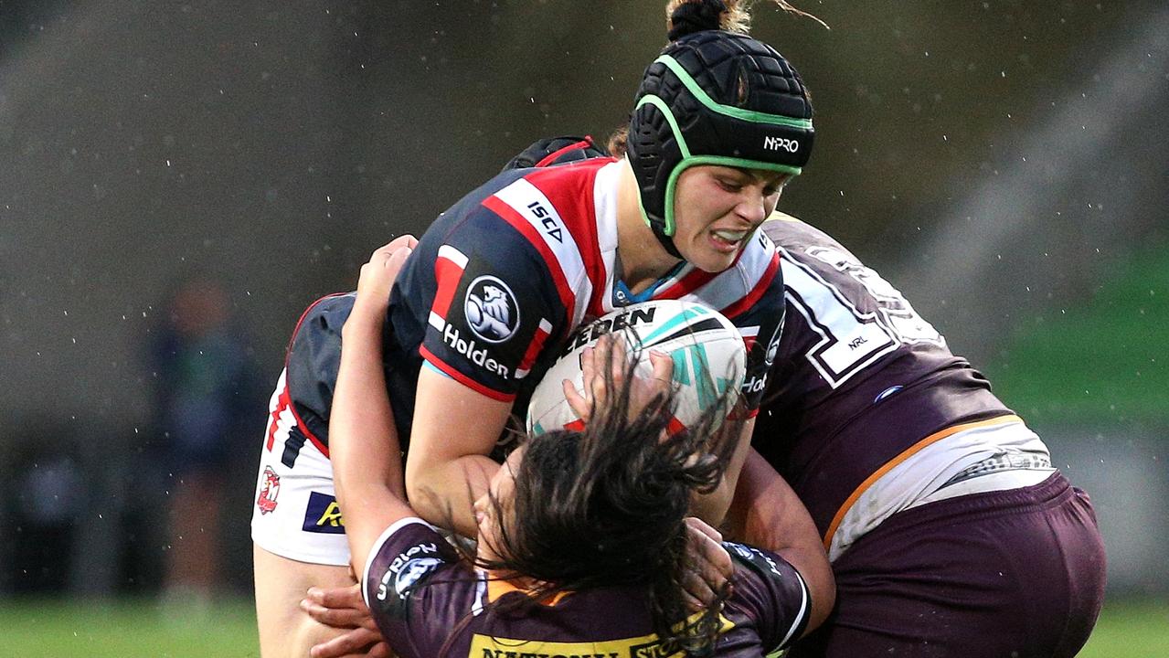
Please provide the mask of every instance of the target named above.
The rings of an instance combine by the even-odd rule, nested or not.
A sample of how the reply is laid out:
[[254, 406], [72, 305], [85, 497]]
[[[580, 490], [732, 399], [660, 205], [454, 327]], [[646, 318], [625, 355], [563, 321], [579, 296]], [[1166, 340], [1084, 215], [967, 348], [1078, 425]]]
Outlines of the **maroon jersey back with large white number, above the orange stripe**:
[[753, 445], [826, 535], [883, 466], [940, 430], [1011, 411], [876, 271], [777, 217], [763, 231], [782, 256], [787, 317]]

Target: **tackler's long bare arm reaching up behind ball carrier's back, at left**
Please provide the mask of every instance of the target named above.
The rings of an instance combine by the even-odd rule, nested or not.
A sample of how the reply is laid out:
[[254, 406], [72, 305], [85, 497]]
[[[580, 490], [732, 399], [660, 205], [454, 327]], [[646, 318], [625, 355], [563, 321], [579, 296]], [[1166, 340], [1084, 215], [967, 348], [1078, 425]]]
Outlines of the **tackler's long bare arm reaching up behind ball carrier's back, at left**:
[[400, 240], [374, 251], [361, 268], [358, 298], [341, 328], [341, 365], [328, 427], [337, 501], [345, 517], [350, 563], [359, 577], [378, 536], [395, 521], [414, 515], [406, 503], [397, 431], [381, 365], [389, 289], [413, 247]]

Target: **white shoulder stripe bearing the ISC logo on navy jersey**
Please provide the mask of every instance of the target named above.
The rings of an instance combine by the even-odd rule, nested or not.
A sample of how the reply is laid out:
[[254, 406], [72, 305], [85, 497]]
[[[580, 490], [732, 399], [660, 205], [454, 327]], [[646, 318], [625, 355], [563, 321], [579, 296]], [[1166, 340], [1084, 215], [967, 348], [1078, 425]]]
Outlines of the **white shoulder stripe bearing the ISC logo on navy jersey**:
[[576, 247], [576, 240], [560, 217], [560, 213], [539, 188], [525, 179], [519, 179], [500, 189], [494, 196], [527, 220], [555, 256], [560, 270], [565, 273], [568, 289], [576, 296], [573, 326], [580, 325], [588, 300], [593, 296], [593, 282], [588, 278], [584, 258]]

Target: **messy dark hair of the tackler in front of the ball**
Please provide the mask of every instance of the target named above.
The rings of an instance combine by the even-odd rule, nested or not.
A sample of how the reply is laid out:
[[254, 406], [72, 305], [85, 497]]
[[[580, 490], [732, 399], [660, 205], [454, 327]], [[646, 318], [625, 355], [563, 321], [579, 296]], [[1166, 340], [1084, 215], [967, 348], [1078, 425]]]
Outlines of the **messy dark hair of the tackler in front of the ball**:
[[[630, 366], [625, 380], [632, 375]], [[698, 422], [671, 435], [672, 392], [630, 416], [630, 387], [621, 386], [606, 408], [594, 408], [583, 431], [528, 438], [514, 476], [513, 522], [500, 524], [499, 546], [492, 546], [500, 559], [478, 563], [541, 584], [532, 597], [516, 597], [497, 611], [561, 591], [643, 586], [665, 652], [708, 653], [725, 596], [697, 622], [679, 623], [687, 617], [685, 517], [691, 494], [718, 486], [735, 448], [741, 422], [726, 418], [736, 395], [728, 390]], [[491, 504], [503, 519], [500, 503]]]

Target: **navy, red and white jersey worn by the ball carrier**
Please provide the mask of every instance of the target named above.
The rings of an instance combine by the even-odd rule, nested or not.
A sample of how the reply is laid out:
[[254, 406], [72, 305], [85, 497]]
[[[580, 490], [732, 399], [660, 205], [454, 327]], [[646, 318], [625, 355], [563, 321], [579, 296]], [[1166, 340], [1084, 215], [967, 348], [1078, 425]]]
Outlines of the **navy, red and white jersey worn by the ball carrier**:
[[[394, 334], [451, 378], [511, 401], [576, 326], [611, 311], [622, 164], [595, 158], [504, 172], [440, 217], [399, 279]], [[721, 311], [748, 344], [748, 407], [762, 394], [783, 321], [780, 256], [759, 231], [718, 273], [685, 264], [653, 299]], [[537, 370], [537, 375], [532, 375]]]

